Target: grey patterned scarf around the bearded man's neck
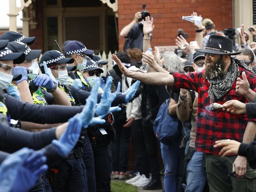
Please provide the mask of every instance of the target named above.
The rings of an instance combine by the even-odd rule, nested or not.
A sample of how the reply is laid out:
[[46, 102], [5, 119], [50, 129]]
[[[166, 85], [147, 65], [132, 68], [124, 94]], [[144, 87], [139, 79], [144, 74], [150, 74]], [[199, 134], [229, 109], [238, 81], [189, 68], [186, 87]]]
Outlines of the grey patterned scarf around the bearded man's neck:
[[214, 79], [207, 79], [210, 83], [208, 97], [210, 97], [211, 103], [219, 100], [219, 98], [223, 97], [231, 89], [233, 83], [240, 75], [238, 66], [245, 68], [256, 76], [255, 72], [245, 65], [243, 61], [236, 59], [235, 57], [231, 57], [231, 65], [223, 78], [218, 76]]

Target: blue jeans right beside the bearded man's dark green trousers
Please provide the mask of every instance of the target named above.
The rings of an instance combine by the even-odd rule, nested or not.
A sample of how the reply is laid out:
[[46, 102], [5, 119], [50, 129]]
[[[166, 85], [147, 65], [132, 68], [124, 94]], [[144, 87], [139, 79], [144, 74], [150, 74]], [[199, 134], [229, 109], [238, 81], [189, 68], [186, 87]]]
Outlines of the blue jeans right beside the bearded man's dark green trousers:
[[202, 166], [203, 153], [195, 151], [187, 162], [185, 192], [201, 192], [207, 179], [205, 167]]

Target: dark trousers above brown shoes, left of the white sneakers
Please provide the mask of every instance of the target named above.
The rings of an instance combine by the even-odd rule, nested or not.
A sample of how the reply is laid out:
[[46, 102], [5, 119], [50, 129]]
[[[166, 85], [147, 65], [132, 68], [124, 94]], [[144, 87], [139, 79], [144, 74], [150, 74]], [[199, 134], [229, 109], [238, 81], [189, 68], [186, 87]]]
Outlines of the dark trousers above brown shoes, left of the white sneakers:
[[123, 127], [124, 120], [120, 124], [114, 124], [116, 140], [112, 144], [113, 171], [126, 172], [128, 169], [128, 149], [130, 140], [130, 127]]

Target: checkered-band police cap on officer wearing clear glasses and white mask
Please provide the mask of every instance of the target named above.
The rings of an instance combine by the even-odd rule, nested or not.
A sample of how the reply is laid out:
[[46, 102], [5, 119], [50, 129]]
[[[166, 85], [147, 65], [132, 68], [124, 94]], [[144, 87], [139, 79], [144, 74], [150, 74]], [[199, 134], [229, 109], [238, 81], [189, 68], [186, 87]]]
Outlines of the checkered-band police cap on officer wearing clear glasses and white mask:
[[42, 68], [44, 66], [43, 61], [46, 62], [46, 65], [50, 65], [52, 63], [58, 63], [58, 64], [74, 63], [73, 58], [66, 58], [61, 52], [56, 51], [56, 50], [47, 51], [42, 55], [42, 57], [39, 61], [40, 68]]

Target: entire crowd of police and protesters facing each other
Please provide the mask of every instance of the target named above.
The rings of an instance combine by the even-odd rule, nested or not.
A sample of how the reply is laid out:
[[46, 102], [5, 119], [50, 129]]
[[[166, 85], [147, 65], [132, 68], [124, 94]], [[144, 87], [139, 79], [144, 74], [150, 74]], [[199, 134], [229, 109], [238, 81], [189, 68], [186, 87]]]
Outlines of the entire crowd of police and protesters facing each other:
[[160, 53], [154, 19], [135, 13], [106, 77], [108, 61], [80, 41], [42, 53], [29, 47], [36, 37], [1, 35], [0, 190], [110, 192], [111, 179], [126, 179], [144, 190], [255, 192], [256, 43], [243, 24], [238, 46], [200, 18], [186, 19], [195, 41], [176, 38], [182, 54]]

